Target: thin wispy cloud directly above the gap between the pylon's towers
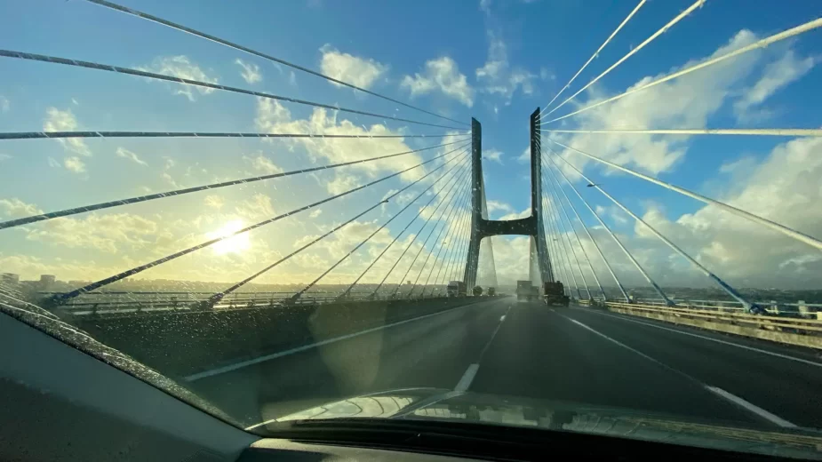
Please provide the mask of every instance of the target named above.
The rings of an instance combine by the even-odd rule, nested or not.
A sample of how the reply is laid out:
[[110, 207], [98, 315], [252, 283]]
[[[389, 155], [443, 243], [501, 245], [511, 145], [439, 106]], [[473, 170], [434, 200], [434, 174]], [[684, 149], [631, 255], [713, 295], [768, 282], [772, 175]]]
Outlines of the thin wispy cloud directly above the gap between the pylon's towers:
[[482, 92], [501, 96], [506, 105], [511, 103], [518, 89], [524, 95], [533, 94], [533, 81], [537, 75], [523, 68], [511, 68], [505, 42], [491, 31], [488, 38], [488, 60], [475, 71], [477, 82], [484, 85]]

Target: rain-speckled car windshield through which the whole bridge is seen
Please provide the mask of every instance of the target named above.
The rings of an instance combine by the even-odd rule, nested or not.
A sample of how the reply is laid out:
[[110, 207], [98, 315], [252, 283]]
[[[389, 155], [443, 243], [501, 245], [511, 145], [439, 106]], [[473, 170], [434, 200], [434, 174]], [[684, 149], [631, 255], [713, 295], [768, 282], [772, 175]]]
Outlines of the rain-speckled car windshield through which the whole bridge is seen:
[[263, 434], [822, 448], [818, 7], [703, 3], [6, 3], [0, 309]]

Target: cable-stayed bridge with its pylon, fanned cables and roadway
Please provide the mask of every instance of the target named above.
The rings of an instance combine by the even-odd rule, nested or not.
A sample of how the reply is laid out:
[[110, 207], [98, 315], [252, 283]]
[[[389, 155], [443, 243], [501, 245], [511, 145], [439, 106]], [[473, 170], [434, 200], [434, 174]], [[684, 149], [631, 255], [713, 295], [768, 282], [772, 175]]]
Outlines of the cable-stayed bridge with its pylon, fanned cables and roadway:
[[[374, 118], [386, 123], [444, 132], [409, 131], [384, 135], [397, 139], [425, 139], [432, 144], [405, 152], [292, 171], [227, 179], [196, 187], [180, 187], [105, 202], [38, 212], [0, 222], [0, 232], [44, 226], [51, 220], [89, 213], [109, 213], [137, 203], [159, 203], [172, 197], [220, 191], [258, 182], [308, 175], [315, 171], [346, 169], [403, 156], [425, 155], [419, 163], [320, 200], [307, 201], [289, 211], [216, 237], [204, 238], [159, 258], [146, 258], [116, 274], [73, 287], [70, 291], [41, 292], [35, 299], [0, 291], [4, 315], [28, 314], [68, 323], [92, 338], [115, 347], [201, 395], [245, 426], [283, 417], [291, 412], [352, 395], [408, 387], [437, 387], [455, 393], [524, 396], [570, 401], [594, 406], [642, 410], [653, 415], [682, 415], [722, 420], [746, 426], [822, 427], [822, 305], [754, 299], [717, 275], [666, 235], [642, 219], [618, 197], [606, 191], [602, 178], [593, 178], [581, 165], [603, 165], [627, 177], [665, 188], [722, 213], [746, 219], [757, 227], [802, 243], [809, 252], [822, 251], [817, 236], [742, 210], [730, 203], [698, 194], [649, 174], [611, 162], [597, 153], [566, 144], [559, 134], [568, 130], [558, 122], [691, 72], [704, 72], [762, 46], [822, 27], [812, 20], [796, 28], [700, 61], [688, 68], [635, 86], [606, 100], [577, 104], [564, 116], [552, 116], [591, 84], [607, 75], [650, 43], [676, 21], [701, 5], [693, 4], [672, 22], [635, 47], [625, 58], [596, 76], [578, 92], [554, 104], [604, 46], [597, 50], [545, 108], [536, 108], [523, 123], [530, 128], [531, 214], [513, 220], [488, 216], [483, 176], [483, 135], [478, 120], [460, 121], [410, 103], [372, 92], [354, 84], [270, 56], [217, 36], [164, 20], [145, 12], [103, 0], [104, 8], [152, 21], [166, 28], [210, 40], [235, 52], [275, 62], [333, 84], [388, 101], [412, 116], [395, 116], [348, 108], [327, 102], [299, 100], [153, 72], [105, 62], [76, 60], [13, 50], [0, 57], [37, 61], [53, 66], [84, 68], [125, 76], [188, 85], [209, 91], [256, 97], [307, 108], [323, 108], [342, 115]], [[640, 6], [644, 2], [640, 3]], [[639, 6], [637, 6], [637, 9]], [[636, 10], [634, 10], [635, 12]], [[634, 12], [631, 14], [633, 15]], [[684, 15], [684, 16], [682, 16]], [[622, 28], [627, 20], [619, 26]], [[613, 35], [619, 29], [614, 31]], [[611, 37], [613, 36], [611, 35]], [[243, 96], [244, 95], [244, 96]], [[574, 101], [576, 102], [576, 101]], [[546, 120], [548, 119], [548, 120]], [[591, 134], [655, 134], [691, 136], [765, 136], [804, 138], [822, 136], [817, 129], [603, 129]], [[323, 132], [211, 132], [211, 131], [19, 131], [0, 132], [0, 140], [37, 139], [349, 139], [373, 142], [379, 135], [343, 135]], [[411, 158], [411, 157], [410, 157]], [[408, 175], [405, 175], [408, 173]], [[385, 193], [389, 181], [400, 187]], [[647, 233], [663, 243], [721, 291], [712, 300], [676, 298], [655, 281], [633, 251], [622, 242], [591, 203], [602, 195], [624, 211]], [[152, 268], [211, 248], [259, 228], [275, 228], [283, 219], [308, 220], [310, 211], [334, 207], [356, 195], [362, 210], [329, 227], [281, 258], [257, 268], [219, 291], [123, 291], [122, 284]], [[406, 203], [387, 218], [379, 216], [386, 203]], [[253, 284], [317, 243], [339, 233], [356, 220], [377, 220], [379, 227], [334, 261], [314, 279], [293, 291], [253, 290]], [[326, 276], [346, 264], [375, 236], [390, 230], [392, 239], [379, 244], [370, 263], [338, 290], [323, 289]], [[596, 230], [596, 232], [595, 232]], [[497, 286], [491, 236], [525, 235], [531, 239], [531, 281], [562, 281], [571, 307], [549, 307], [542, 302], [518, 302], [509, 296], [474, 296], [472, 289]], [[605, 245], [616, 245], [619, 258], [647, 283], [648, 297], [631, 295], [615, 269]], [[815, 254], [815, 253], [814, 253]], [[388, 260], [391, 257], [392, 260]], [[387, 268], [377, 275], [376, 268]], [[448, 296], [451, 281], [467, 284], [465, 296]], [[27, 318], [28, 319], [28, 318]]]

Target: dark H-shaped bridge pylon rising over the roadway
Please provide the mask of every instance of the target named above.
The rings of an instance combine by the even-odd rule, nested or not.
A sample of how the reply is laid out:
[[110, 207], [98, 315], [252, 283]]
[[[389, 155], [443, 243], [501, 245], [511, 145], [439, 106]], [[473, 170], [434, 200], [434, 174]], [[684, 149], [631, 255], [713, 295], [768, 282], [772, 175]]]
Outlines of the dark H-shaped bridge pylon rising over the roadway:
[[[483, 127], [471, 119], [471, 240], [463, 279], [470, 289], [476, 284], [480, 243], [492, 235], [531, 236], [531, 267], [539, 267], [539, 283], [554, 281], [554, 270], [548, 256], [542, 211], [542, 151], [540, 145], [539, 108], [531, 114], [531, 216], [523, 219], [493, 220], [483, 218], [485, 185], [483, 182]], [[531, 251], [533, 249], [533, 251]], [[536, 262], [533, 260], [536, 259]], [[536, 265], [534, 265], [536, 263]]]

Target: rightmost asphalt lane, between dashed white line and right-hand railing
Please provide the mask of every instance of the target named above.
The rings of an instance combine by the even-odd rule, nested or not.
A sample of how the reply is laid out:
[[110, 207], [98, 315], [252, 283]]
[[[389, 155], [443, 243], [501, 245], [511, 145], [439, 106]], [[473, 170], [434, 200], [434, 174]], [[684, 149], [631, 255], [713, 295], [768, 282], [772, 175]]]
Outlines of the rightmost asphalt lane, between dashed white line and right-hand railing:
[[814, 354], [599, 310], [557, 312], [797, 426], [822, 428], [822, 361]]

